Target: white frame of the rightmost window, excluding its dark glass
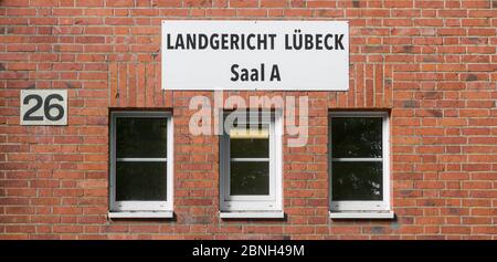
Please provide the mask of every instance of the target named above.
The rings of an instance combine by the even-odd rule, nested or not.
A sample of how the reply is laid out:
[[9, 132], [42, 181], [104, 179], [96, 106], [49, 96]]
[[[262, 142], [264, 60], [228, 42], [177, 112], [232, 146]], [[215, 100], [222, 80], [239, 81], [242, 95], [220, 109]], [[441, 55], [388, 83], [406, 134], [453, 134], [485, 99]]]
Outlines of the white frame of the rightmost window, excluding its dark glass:
[[[334, 158], [331, 151], [332, 118], [338, 117], [381, 117], [382, 118], [382, 157], [381, 158]], [[368, 212], [368, 211], [390, 211], [390, 120], [388, 112], [331, 112], [329, 114], [329, 206], [331, 212]], [[334, 201], [332, 200], [332, 163], [334, 161], [382, 161], [383, 170], [383, 200], [382, 201]], [[353, 216], [352, 216], [353, 217]], [[357, 218], [374, 218], [374, 216], [356, 216]], [[390, 212], [389, 212], [389, 218]], [[336, 218], [342, 218], [337, 216]], [[347, 218], [345, 216], [343, 218]]]

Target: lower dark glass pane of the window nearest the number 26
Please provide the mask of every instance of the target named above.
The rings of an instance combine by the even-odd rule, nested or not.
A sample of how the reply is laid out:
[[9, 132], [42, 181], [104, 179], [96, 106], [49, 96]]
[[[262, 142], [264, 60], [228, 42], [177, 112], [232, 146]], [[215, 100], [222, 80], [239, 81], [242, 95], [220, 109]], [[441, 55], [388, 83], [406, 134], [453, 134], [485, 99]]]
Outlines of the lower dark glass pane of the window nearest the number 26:
[[117, 201], [166, 201], [167, 164], [160, 161], [118, 161]]

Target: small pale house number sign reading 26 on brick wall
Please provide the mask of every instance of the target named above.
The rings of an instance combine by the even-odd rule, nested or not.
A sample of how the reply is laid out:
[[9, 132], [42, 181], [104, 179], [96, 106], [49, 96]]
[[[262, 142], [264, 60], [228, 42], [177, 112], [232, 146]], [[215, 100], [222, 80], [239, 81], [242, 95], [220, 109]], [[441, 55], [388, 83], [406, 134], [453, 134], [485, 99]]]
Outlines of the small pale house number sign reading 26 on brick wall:
[[21, 125], [67, 125], [66, 90], [21, 90]]

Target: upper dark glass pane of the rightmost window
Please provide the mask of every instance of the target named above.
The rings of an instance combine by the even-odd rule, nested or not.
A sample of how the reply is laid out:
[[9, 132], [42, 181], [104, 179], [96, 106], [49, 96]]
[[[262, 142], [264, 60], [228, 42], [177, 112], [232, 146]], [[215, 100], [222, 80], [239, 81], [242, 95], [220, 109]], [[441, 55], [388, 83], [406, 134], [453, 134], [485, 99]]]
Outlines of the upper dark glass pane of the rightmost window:
[[332, 157], [382, 157], [382, 122], [381, 117], [332, 117]]

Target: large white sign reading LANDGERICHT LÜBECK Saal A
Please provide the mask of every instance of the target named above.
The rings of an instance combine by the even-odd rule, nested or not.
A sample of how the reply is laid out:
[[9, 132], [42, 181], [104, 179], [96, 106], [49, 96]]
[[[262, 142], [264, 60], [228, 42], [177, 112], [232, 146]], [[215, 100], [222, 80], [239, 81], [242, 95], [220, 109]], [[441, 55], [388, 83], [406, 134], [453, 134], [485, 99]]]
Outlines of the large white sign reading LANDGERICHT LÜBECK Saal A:
[[162, 21], [163, 90], [349, 88], [347, 21]]

